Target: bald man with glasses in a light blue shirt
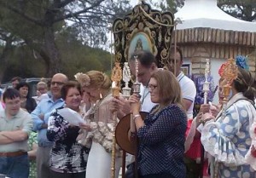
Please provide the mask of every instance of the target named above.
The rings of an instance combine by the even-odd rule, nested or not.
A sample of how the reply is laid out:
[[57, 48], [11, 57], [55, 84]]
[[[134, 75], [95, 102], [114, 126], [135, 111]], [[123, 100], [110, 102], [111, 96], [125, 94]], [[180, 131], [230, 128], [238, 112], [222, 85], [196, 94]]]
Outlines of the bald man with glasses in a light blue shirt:
[[50, 113], [58, 107], [64, 105], [61, 99], [61, 88], [67, 82], [67, 76], [57, 73], [53, 76], [50, 83], [51, 97], [41, 100], [36, 109], [31, 113], [33, 119], [33, 130], [38, 131], [38, 152], [37, 152], [37, 171], [38, 178], [50, 178], [49, 175], [49, 152], [53, 145], [47, 140], [46, 131]]

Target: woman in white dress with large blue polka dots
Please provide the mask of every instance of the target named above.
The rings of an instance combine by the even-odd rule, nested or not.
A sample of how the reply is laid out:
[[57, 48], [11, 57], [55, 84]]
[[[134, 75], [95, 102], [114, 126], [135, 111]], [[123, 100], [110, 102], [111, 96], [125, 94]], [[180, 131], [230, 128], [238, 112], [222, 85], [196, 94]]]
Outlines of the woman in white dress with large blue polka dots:
[[206, 123], [198, 128], [201, 143], [215, 159], [211, 177], [256, 177], [245, 159], [252, 144], [249, 128], [256, 118], [253, 82], [251, 73], [238, 67], [238, 77], [231, 83], [232, 95], [225, 112], [219, 112], [216, 118], [208, 112], [202, 116]]

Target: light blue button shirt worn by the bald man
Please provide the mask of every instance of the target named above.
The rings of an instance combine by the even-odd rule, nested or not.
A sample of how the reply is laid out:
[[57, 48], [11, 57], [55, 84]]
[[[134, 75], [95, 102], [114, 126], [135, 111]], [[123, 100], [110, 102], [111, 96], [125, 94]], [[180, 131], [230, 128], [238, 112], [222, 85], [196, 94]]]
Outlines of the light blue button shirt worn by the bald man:
[[[41, 100], [36, 109], [31, 113], [33, 119], [33, 130], [38, 131], [38, 146], [52, 146], [53, 142], [48, 141], [46, 137], [47, 129], [42, 129], [43, 123], [48, 123], [50, 113], [55, 109], [64, 106], [64, 100], [52, 100], [52, 98]], [[39, 118], [40, 114], [44, 114], [44, 120]]]

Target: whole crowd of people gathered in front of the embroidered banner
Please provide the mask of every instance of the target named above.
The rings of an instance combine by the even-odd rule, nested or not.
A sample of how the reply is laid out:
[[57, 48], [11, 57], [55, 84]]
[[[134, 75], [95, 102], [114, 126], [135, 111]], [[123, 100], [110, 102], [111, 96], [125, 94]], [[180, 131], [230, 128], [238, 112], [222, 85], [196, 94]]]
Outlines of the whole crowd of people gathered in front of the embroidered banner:
[[[13, 78], [0, 103], [0, 174], [113, 178], [113, 171], [117, 178], [122, 150], [113, 146], [113, 123], [131, 114], [127, 136], [138, 140], [137, 155], [127, 154], [125, 178], [256, 177], [253, 75], [237, 65], [226, 105], [228, 83], [220, 78], [219, 103], [201, 105], [193, 118], [195, 83], [181, 71], [182, 51], [171, 48], [169, 54], [166, 70], [148, 51], [131, 55], [131, 74], [141, 86], [129, 99], [113, 97], [110, 78], [98, 71], [78, 73], [75, 80], [56, 73], [49, 84], [38, 83], [34, 97], [28, 83]], [[76, 114], [83, 122], [72, 122]]]

